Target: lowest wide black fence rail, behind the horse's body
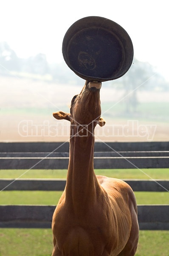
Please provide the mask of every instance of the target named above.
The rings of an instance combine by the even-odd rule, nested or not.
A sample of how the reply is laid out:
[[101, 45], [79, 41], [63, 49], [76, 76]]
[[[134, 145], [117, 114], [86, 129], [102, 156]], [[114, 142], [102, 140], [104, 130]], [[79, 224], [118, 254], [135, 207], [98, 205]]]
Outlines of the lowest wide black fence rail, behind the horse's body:
[[[54, 205], [1, 205], [2, 228], [51, 228]], [[169, 230], [169, 205], [138, 205], [140, 230]]]

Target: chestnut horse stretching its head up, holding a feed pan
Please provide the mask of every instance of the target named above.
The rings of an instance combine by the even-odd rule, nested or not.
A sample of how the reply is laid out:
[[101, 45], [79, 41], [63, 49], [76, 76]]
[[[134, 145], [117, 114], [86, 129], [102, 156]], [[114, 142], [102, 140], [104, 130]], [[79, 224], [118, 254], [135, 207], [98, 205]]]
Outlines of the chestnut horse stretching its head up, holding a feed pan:
[[133, 256], [138, 244], [135, 195], [122, 180], [95, 175], [94, 128], [103, 126], [100, 82], [85, 82], [73, 97], [70, 113], [53, 113], [70, 121], [70, 158], [65, 190], [52, 221], [52, 256]]

